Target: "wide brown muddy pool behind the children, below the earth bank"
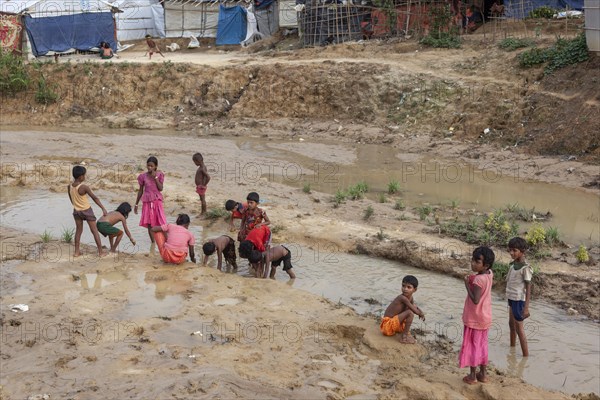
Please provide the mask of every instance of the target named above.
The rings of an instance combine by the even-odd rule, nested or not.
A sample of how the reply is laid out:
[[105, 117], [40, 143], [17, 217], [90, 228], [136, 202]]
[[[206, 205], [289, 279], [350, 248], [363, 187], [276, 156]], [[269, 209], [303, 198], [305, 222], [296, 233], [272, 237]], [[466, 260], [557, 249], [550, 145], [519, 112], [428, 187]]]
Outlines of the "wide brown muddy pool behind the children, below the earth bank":
[[[454, 202], [460, 208], [491, 212], [518, 204], [528, 210], [535, 208], [539, 214], [552, 213], [552, 219], [543, 224], [558, 227], [561, 238], [570, 243], [600, 242], [600, 198], [559, 185], [524, 180], [525, 171], [537, 171], [535, 164], [476, 169], [460, 161], [421, 158], [381, 145], [289, 141], [267, 144], [248, 139], [238, 139], [237, 143], [257, 157], [283, 161], [279, 168], [263, 168], [262, 172], [264, 177], [286, 185], [302, 187], [309, 183], [314, 190], [334, 194], [365, 181], [369, 185], [368, 196], [377, 200], [379, 193], [387, 193], [391, 181], [397, 181], [409, 207], [423, 203], [449, 206]], [[340, 152], [346, 154], [340, 156]], [[251, 170], [247, 167], [248, 173]], [[526, 223], [520, 225], [527, 227]]]

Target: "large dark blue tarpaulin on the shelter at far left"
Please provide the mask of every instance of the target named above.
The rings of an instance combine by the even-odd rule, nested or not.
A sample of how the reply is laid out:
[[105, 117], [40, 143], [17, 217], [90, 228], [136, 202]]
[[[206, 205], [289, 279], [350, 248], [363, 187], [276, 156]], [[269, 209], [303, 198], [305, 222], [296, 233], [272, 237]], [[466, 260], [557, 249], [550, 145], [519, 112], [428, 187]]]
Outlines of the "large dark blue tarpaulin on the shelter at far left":
[[111, 12], [42, 18], [25, 16], [25, 29], [36, 57], [49, 51], [90, 50], [102, 41], [107, 42], [113, 51], [117, 50]]

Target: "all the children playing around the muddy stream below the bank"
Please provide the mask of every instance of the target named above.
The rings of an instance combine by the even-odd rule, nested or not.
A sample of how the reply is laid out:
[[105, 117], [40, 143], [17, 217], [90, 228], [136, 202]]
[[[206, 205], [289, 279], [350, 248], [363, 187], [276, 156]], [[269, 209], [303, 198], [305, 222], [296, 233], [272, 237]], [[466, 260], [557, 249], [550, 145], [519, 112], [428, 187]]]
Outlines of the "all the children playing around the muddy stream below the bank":
[[[192, 160], [198, 167], [195, 175], [196, 193], [200, 197], [202, 211], [206, 212], [206, 188], [210, 176], [204, 165], [200, 153], [193, 155]], [[187, 214], [179, 214], [175, 224], [168, 224], [163, 208], [163, 184], [165, 176], [158, 170], [156, 157], [149, 157], [146, 161], [147, 172], [138, 176], [139, 189], [134, 213], [138, 213], [139, 202], [142, 202], [140, 226], [148, 229], [152, 246], [158, 246], [162, 259], [167, 263], [181, 264], [190, 256], [196, 262], [194, 253], [194, 235], [188, 230], [190, 218]], [[98, 255], [104, 256], [100, 234], [107, 236], [110, 251], [116, 252], [123, 237], [123, 232], [114, 227], [121, 222], [125, 234], [135, 245], [127, 227], [127, 217], [131, 212], [129, 203], [121, 203], [115, 211], [107, 212], [98, 197], [85, 184], [86, 169], [83, 166], [73, 167], [74, 181], [69, 184], [68, 194], [73, 204], [73, 218], [75, 219], [75, 256], [80, 255], [80, 240], [83, 232], [83, 221], [87, 221], [90, 231], [98, 247]], [[88, 197], [101, 209], [102, 217], [96, 223], [96, 217], [91, 208]], [[291, 279], [295, 278], [292, 271], [291, 253], [285, 246], [271, 247], [270, 220], [267, 213], [258, 207], [259, 194], [248, 193], [246, 203], [227, 200], [225, 208], [231, 212], [229, 228], [235, 230], [234, 220], [240, 219], [240, 229], [237, 240], [239, 241], [239, 255], [248, 259], [255, 270], [257, 277], [275, 277], [276, 268], [283, 263], [283, 270]], [[506, 277], [506, 297], [508, 299], [510, 345], [515, 346], [519, 338], [523, 356], [529, 355], [527, 338], [523, 321], [530, 316], [529, 302], [531, 298], [532, 268], [525, 261], [527, 242], [520, 237], [515, 237], [508, 242], [508, 251], [512, 258]], [[228, 235], [221, 235], [208, 239], [202, 246], [204, 253], [203, 264], [206, 265], [209, 256], [217, 253], [217, 268], [222, 269], [223, 259], [237, 270], [237, 256], [235, 240]], [[491, 290], [493, 283], [492, 265], [494, 252], [488, 247], [478, 247], [473, 251], [471, 270], [474, 274], [465, 276], [465, 289], [467, 297], [463, 309], [463, 343], [459, 355], [461, 368], [470, 367], [470, 373], [463, 378], [467, 384], [488, 381], [486, 366], [488, 364], [488, 331], [492, 324]], [[425, 320], [424, 312], [415, 304], [413, 294], [417, 291], [419, 282], [412, 275], [405, 276], [402, 280], [402, 294], [392, 301], [385, 310], [381, 321], [380, 330], [386, 336], [400, 333], [400, 342], [412, 344], [415, 339], [410, 334], [410, 327], [414, 315]], [[477, 372], [479, 367], [479, 372]]]

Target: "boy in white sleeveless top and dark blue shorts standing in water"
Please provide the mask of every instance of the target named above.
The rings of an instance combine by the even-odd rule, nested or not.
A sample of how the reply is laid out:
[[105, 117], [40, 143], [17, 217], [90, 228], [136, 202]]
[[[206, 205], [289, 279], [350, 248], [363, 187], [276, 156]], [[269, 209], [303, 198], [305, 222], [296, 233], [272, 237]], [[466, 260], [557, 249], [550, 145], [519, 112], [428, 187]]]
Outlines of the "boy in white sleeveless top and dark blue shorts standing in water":
[[533, 270], [525, 261], [527, 242], [515, 237], [508, 242], [508, 253], [512, 258], [506, 275], [506, 298], [508, 299], [508, 326], [510, 328], [510, 345], [516, 344], [519, 336], [523, 357], [529, 356], [527, 336], [523, 321], [529, 317], [529, 300], [531, 298], [531, 277]]

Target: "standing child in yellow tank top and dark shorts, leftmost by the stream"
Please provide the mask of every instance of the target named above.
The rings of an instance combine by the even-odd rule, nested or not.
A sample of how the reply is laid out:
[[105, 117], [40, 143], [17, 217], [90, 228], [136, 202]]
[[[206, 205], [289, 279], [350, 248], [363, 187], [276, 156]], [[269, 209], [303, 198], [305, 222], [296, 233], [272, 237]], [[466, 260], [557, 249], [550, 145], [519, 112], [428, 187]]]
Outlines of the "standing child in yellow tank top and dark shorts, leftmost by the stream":
[[92, 189], [83, 184], [86, 172], [87, 170], [85, 167], [80, 165], [73, 167], [74, 180], [73, 183], [67, 187], [69, 199], [71, 200], [71, 204], [73, 204], [73, 218], [75, 219], [75, 253], [73, 256], [79, 257], [81, 255], [79, 245], [81, 242], [81, 234], [83, 233], [83, 221], [87, 221], [90, 231], [92, 232], [92, 235], [94, 235], [96, 246], [98, 247], [98, 256], [104, 257], [107, 253], [102, 251], [102, 242], [100, 241], [100, 235], [98, 234], [98, 228], [96, 227], [96, 216], [94, 215], [94, 210], [92, 210], [87, 196], [90, 196], [92, 200], [94, 200], [94, 203], [102, 209], [102, 215], [106, 215], [106, 208], [104, 208], [100, 200], [92, 192]]

